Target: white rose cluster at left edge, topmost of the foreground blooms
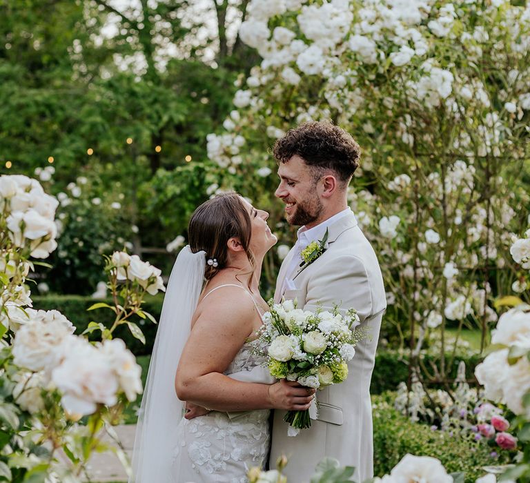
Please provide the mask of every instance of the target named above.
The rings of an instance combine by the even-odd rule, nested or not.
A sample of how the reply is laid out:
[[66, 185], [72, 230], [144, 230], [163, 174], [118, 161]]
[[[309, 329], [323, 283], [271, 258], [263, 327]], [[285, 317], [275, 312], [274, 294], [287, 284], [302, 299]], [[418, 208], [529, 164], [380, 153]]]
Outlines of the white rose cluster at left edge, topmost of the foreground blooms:
[[46, 258], [57, 248], [59, 203], [44, 193], [39, 181], [23, 175], [0, 176], [0, 204], [14, 248], [27, 248], [35, 258]]

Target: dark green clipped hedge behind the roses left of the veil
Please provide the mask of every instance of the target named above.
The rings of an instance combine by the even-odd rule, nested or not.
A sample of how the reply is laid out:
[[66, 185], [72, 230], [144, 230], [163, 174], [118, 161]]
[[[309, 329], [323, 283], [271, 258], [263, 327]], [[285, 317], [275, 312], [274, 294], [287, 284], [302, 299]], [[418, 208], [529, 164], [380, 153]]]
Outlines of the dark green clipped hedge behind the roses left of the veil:
[[[88, 308], [94, 304], [95, 300], [90, 297], [81, 297], [78, 295], [56, 295], [48, 297], [32, 297], [34, 308], [44, 311], [57, 310], [61, 312], [72, 324], [75, 325], [75, 333], [81, 334], [88, 328], [90, 322], [101, 323], [107, 328], [112, 326], [114, 314], [107, 308], [97, 308], [92, 311], [87, 311]], [[161, 312], [161, 304], [163, 295], [156, 297], [147, 296], [146, 301], [142, 304], [142, 311], [148, 312], [155, 319], [159, 320]], [[110, 299], [102, 301], [112, 305]], [[131, 333], [126, 324], [118, 326], [113, 337], [123, 339], [127, 348], [135, 355], [150, 354], [153, 351], [153, 344], [155, 343], [155, 336], [157, 333], [157, 325], [150, 322], [148, 319], [141, 317], [133, 318], [135, 323], [141, 328], [141, 331], [146, 337], [146, 344], [136, 339]], [[89, 339], [101, 339], [101, 334], [96, 331], [95, 334], [89, 334]]]

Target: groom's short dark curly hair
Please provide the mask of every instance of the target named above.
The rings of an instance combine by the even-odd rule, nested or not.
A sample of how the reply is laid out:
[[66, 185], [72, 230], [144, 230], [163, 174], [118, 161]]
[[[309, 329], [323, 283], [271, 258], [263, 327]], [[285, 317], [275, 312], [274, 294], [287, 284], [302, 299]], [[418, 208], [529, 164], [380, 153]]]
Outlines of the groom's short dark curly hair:
[[333, 170], [340, 181], [347, 182], [359, 166], [361, 148], [344, 129], [330, 121], [309, 121], [290, 129], [275, 142], [273, 155], [279, 163], [300, 156], [315, 175]]

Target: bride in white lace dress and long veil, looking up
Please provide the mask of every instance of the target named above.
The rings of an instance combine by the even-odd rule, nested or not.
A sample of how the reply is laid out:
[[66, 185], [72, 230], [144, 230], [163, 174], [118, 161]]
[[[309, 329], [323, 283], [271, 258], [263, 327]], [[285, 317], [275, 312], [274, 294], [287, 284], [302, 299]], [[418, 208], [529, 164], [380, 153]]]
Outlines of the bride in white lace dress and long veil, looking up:
[[266, 462], [269, 410], [310, 406], [314, 390], [272, 384], [251, 351], [267, 310], [259, 273], [276, 243], [267, 218], [235, 193], [206, 201], [191, 217], [190, 244], [164, 299], [130, 482], [244, 483], [251, 466]]

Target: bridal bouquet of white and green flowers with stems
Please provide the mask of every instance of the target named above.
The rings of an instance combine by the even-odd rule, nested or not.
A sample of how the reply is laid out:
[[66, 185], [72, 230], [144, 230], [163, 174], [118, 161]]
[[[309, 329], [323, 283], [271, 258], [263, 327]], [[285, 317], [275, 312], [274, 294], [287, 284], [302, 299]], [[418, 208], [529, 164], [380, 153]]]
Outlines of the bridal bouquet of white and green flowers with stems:
[[[341, 315], [338, 306], [332, 312], [302, 311], [296, 300], [281, 304], [268, 303], [259, 329], [256, 350], [266, 357], [271, 375], [277, 379], [297, 381], [302, 386], [322, 388], [348, 377], [346, 364], [355, 355], [360, 335], [353, 329], [359, 317], [351, 308]], [[293, 428], [311, 426], [309, 411], [288, 411], [284, 417]]]

